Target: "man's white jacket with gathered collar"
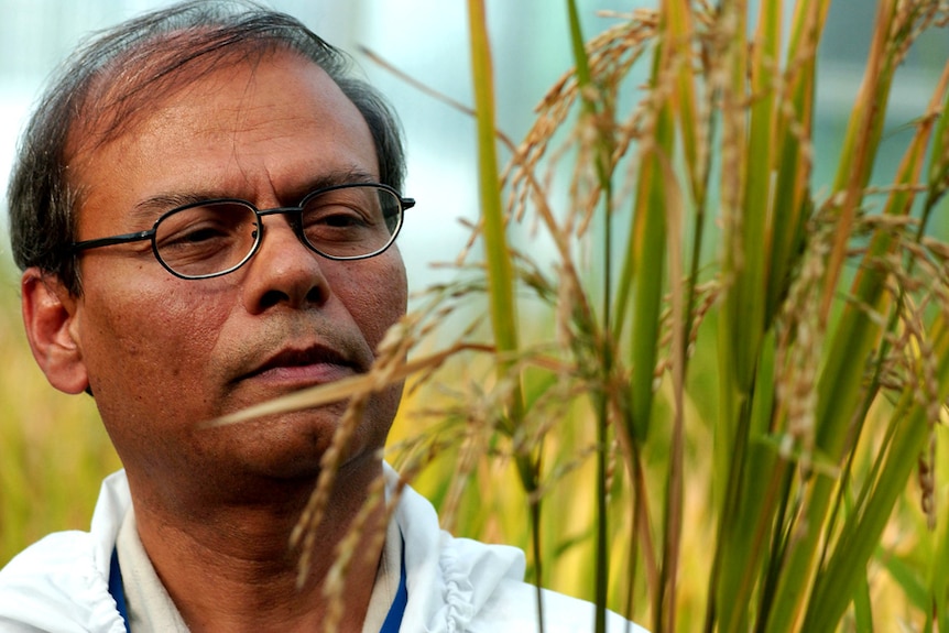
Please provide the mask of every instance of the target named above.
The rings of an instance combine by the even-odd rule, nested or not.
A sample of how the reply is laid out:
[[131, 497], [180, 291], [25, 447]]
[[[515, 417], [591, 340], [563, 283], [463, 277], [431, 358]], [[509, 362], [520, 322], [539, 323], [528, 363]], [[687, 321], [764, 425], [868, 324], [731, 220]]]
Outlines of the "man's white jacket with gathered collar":
[[[399, 476], [385, 466], [385, 477], [391, 489]], [[51, 534], [0, 570], [0, 631], [124, 633], [108, 580], [112, 549], [130, 508], [128, 480], [119, 471], [102, 483], [89, 532]], [[535, 588], [522, 580], [524, 554], [520, 549], [452, 537], [439, 528], [432, 504], [411, 488], [403, 490], [393, 524], [404, 539], [408, 589], [401, 631], [537, 631]], [[124, 585], [128, 592], [129, 578]], [[388, 591], [375, 590], [383, 596]], [[391, 603], [388, 597], [380, 600]], [[546, 633], [593, 630], [589, 602], [544, 590], [543, 604]], [[372, 604], [370, 609], [374, 609]], [[615, 613], [608, 616], [613, 633], [645, 633]]]

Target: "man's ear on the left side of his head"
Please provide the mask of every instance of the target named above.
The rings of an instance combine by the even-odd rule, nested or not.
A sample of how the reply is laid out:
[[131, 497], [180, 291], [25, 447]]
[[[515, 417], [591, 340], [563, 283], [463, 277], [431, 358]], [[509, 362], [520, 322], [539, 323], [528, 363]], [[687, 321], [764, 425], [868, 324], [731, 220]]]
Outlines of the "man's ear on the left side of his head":
[[73, 296], [55, 276], [31, 268], [20, 281], [23, 324], [33, 358], [50, 384], [66, 393], [89, 386], [78, 340], [77, 307]]

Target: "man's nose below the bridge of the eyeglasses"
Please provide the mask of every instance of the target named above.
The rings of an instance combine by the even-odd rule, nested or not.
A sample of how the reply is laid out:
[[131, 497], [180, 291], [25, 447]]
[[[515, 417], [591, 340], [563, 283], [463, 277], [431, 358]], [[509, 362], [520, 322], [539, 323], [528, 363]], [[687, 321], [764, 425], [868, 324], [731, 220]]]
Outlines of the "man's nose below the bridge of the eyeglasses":
[[[248, 312], [275, 306], [301, 309], [321, 305], [330, 295], [320, 264], [327, 262], [301, 242], [288, 217], [261, 218], [263, 231], [257, 254], [246, 264], [242, 293]], [[323, 262], [320, 260], [324, 260]]]

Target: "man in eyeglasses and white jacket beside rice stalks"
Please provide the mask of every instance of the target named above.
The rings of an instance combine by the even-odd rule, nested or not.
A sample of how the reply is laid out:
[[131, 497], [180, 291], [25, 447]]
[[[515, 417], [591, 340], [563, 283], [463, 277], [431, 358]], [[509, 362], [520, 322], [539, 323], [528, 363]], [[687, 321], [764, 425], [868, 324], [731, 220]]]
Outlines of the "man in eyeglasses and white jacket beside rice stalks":
[[[406, 307], [397, 129], [340, 53], [249, 3], [159, 11], [67, 63], [24, 135], [11, 241], [36, 361], [95, 397], [124, 470], [89, 533], [0, 572], [0, 631], [321, 630], [337, 546], [395, 485], [401, 388], [366, 402], [299, 586], [287, 544], [345, 403], [206, 423], [369, 370]], [[519, 550], [440, 533], [411, 490], [384, 516], [350, 544], [339, 630], [533, 630]], [[553, 593], [545, 615], [592, 623]]]

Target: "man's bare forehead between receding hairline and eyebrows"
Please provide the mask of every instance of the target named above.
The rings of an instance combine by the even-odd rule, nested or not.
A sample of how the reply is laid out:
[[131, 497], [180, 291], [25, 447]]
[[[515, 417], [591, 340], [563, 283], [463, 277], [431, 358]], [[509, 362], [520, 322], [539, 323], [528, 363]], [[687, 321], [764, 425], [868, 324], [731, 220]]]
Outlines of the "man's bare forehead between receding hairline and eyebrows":
[[109, 201], [126, 208], [161, 194], [282, 196], [325, 172], [378, 175], [359, 110], [319, 66], [286, 51], [183, 74], [114, 138], [95, 121], [70, 164], [87, 201], [122, 187], [138, 198]]

